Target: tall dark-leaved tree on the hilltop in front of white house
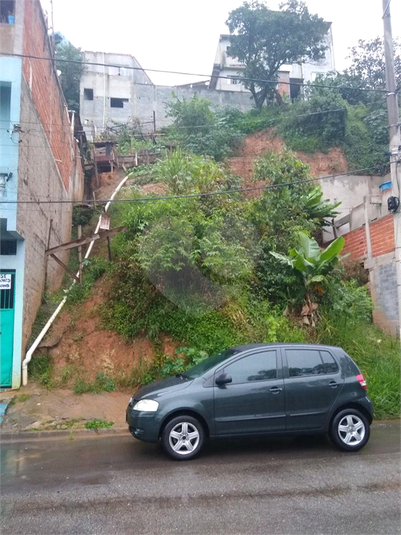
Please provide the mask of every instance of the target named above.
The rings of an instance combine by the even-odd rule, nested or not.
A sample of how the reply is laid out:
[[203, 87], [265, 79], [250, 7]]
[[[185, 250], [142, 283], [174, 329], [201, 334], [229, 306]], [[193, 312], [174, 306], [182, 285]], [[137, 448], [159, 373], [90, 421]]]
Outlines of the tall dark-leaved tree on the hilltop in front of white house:
[[283, 65], [317, 61], [327, 49], [329, 23], [310, 14], [299, 0], [281, 4], [280, 11], [258, 1], [244, 2], [230, 12], [226, 24], [232, 34], [228, 54], [245, 65], [241, 77], [258, 109], [266, 100], [278, 97], [276, 85]]

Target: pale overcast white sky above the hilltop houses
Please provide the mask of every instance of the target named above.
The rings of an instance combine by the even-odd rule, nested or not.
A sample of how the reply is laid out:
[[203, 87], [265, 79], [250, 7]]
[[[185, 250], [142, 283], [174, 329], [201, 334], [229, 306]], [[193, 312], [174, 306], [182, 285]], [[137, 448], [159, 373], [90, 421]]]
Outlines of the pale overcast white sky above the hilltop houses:
[[[41, 0], [51, 13], [51, 0]], [[266, 0], [277, 9], [281, 0]], [[358, 39], [383, 35], [382, 0], [306, 0], [311, 13], [333, 23], [336, 69], [347, 67]], [[53, 0], [55, 31], [82, 50], [131, 54], [142, 67], [194, 73], [148, 72], [159, 85], [210, 76], [228, 14], [242, 0]], [[401, 1], [390, 0], [393, 38], [401, 38]]]

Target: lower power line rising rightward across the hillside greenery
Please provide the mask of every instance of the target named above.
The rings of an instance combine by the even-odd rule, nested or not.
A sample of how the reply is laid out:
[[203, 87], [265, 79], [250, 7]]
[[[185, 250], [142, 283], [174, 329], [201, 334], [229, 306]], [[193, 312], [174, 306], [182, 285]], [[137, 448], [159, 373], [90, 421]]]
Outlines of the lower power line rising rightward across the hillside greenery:
[[384, 168], [386, 164], [381, 164], [381, 165], [376, 165], [374, 167], [365, 167], [364, 169], [357, 169], [355, 171], [347, 171], [347, 172], [344, 172], [344, 173], [336, 173], [335, 175], [325, 175], [325, 176], [321, 176], [321, 177], [316, 177], [316, 178], [311, 178], [311, 179], [307, 179], [307, 180], [298, 180], [296, 182], [283, 182], [281, 184], [271, 184], [271, 185], [264, 185], [264, 186], [254, 186], [254, 187], [251, 187], [251, 188], [234, 188], [234, 189], [230, 189], [230, 190], [218, 190], [218, 191], [209, 191], [209, 192], [205, 192], [205, 193], [189, 193], [189, 194], [186, 194], [186, 195], [167, 195], [167, 196], [154, 196], [154, 197], [135, 197], [135, 198], [126, 198], [126, 199], [88, 199], [88, 200], [85, 200], [85, 201], [73, 201], [73, 200], [58, 200], [58, 201], [50, 201], [50, 200], [45, 200], [45, 201], [40, 201], [40, 200], [29, 200], [29, 201], [20, 201], [20, 200], [16, 200], [16, 201], [1, 201], [0, 202], [0, 205], [1, 204], [36, 204], [36, 205], [41, 205], [41, 204], [82, 204], [82, 203], [86, 203], [86, 204], [103, 204], [103, 203], [107, 203], [107, 202], [132, 202], [132, 203], [136, 203], [136, 202], [159, 202], [159, 201], [170, 201], [170, 200], [179, 200], [179, 199], [193, 199], [193, 198], [200, 198], [200, 197], [212, 197], [212, 196], [216, 196], [216, 195], [233, 195], [233, 194], [236, 194], [236, 193], [246, 193], [248, 191], [256, 191], [256, 190], [264, 190], [264, 191], [268, 191], [268, 190], [272, 190], [272, 189], [276, 189], [276, 188], [283, 188], [283, 187], [290, 187], [290, 186], [296, 186], [296, 185], [303, 185], [303, 184], [308, 184], [308, 183], [311, 183], [311, 182], [316, 182], [316, 181], [320, 181], [320, 180], [327, 180], [327, 179], [330, 179], [330, 178], [338, 178], [338, 177], [342, 177], [342, 176], [349, 176], [349, 175], [355, 175], [355, 174], [360, 174], [362, 172], [366, 172], [366, 171], [373, 171], [373, 170], [378, 170], [380, 168]]

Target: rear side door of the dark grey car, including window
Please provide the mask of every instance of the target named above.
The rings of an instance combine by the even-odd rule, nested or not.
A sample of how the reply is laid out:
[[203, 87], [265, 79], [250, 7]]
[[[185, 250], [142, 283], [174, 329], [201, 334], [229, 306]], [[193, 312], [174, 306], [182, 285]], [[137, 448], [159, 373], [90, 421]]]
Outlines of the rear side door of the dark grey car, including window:
[[328, 350], [285, 349], [284, 384], [288, 431], [319, 430], [344, 385], [337, 361]]

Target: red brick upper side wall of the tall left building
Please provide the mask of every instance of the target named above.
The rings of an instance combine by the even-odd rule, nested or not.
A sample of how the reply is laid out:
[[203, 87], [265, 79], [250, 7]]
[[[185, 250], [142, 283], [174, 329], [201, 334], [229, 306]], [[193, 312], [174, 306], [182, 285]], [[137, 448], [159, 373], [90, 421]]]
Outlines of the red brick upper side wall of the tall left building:
[[[25, 55], [50, 57], [47, 28], [39, 0], [25, 0]], [[49, 141], [63, 184], [68, 191], [72, 171], [72, 136], [64, 96], [52, 62], [23, 59], [23, 75]], [[33, 126], [34, 129], [34, 126]]]

